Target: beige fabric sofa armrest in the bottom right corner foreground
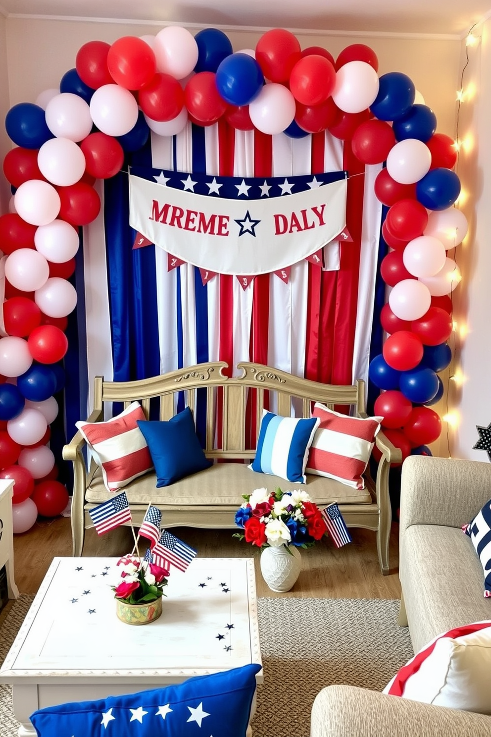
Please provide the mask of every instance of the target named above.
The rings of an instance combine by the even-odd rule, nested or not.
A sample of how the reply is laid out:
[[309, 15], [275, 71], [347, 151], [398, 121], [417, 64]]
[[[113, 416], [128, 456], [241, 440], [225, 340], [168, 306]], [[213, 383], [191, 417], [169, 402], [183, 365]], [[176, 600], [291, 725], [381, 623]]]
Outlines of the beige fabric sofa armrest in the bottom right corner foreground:
[[491, 716], [333, 685], [317, 694], [311, 737], [489, 737]]

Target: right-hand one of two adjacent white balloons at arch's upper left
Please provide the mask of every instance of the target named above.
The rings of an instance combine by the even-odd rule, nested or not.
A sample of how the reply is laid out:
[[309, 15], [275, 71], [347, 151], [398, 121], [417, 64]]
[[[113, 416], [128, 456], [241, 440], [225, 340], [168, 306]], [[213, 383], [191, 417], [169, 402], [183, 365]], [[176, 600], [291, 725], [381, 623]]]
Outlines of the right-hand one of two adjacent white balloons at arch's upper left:
[[91, 117], [107, 136], [124, 136], [138, 120], [138, 102], [124, 87], [102, 85], [91, 97]]

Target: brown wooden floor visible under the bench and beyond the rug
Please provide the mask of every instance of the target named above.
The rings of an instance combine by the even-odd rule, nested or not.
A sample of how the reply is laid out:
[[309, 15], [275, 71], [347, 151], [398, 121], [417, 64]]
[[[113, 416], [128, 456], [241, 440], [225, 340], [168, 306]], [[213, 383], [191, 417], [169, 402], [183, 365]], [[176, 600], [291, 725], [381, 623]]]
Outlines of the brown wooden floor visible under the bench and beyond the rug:
[[[258, 548], [232, 537], [233, 530], [173, 528], [172, 533], [196, 548], [199, 557], [254, 557], [258, 596], [299, 598], [399, 598], [398, 531], [393, 523], [390, 539], [389, 576], [378, 567], [375, 533], [351, 529], [351, 545], [333, 547], [324, 537], [314, 548], [301, 551], [303, 568], [293, 589], [275, 593], [266, 586], [259, 568]], [[105, 535], [88, 530], [84, 556], [121, 556], [133, 548], [130, 528], [120, 527]], [[15, 583], [21, 593], [36, 593], [54, 556], [71, 555], [71, 527], [67, 517], [40, 520], [24, 534], [14, 535]]]

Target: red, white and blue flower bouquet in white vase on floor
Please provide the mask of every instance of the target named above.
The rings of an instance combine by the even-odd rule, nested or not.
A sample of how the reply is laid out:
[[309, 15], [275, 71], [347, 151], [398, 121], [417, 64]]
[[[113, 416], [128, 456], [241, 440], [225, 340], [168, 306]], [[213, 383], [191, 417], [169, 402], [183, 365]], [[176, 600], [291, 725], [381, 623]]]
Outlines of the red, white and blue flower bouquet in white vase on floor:
[[311, 548], [327, 532], [322, 514], [303, 489], [274, 492], [254, 489], [242, 497], [236, 525], [245, 539], [261, 553], [261, 573], [273, 591], [289, 591], [300, 574], [298, 548]]

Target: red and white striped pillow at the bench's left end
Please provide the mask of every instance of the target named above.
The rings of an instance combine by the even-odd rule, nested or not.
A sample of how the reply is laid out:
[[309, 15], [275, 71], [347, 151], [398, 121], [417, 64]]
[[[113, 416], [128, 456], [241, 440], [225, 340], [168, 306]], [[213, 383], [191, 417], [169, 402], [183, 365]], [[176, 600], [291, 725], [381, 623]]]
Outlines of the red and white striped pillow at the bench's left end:
[[116, 492], [153, 468], [148, 445], [136, 424], [138, 419], [146, 419], [144, 411], [138, 402], [132, 402], [107, 422], [75, 423], [102, 468], [108, 492]]

